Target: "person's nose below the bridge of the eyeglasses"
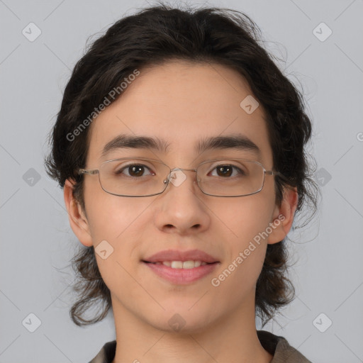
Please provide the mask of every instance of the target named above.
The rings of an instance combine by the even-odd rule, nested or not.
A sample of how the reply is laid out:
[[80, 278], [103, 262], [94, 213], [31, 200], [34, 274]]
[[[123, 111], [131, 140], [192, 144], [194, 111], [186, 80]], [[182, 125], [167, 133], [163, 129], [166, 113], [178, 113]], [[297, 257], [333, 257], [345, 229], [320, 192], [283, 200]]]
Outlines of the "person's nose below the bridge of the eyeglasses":
[[[167, 178], [164, 182], [167, 182]], [[202, 198], [203, 194], [196, 182], [196, 169], [172, 169], [169, 185], [160, 195], [155, 213], [157, 228], [181, 235], [206, 230], [211, 218]]]

